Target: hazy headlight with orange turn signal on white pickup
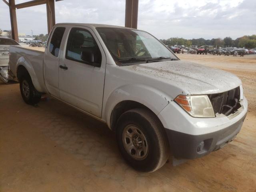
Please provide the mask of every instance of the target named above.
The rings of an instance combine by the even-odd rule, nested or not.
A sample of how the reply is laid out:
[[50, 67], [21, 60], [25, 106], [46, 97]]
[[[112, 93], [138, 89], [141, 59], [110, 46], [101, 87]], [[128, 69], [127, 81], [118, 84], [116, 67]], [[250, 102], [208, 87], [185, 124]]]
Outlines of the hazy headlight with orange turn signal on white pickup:
[[179, 95], [174, 101], [193, 117], [215, 117], [207, 95]]

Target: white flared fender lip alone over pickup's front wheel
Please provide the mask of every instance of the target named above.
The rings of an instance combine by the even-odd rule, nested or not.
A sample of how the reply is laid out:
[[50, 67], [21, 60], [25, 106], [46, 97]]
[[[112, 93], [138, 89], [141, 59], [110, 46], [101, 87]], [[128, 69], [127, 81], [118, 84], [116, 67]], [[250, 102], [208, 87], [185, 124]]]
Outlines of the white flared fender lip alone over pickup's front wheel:
[[[130, 94], [132, 93], [132, 94]], [[110, 116], [114, 107], [125, 100], [136, 101], [152, 110], [158, 115], [171, 101], [171, 97], [156, 88], [144, 84], [127, 84], [114, 90], [103, 101], [102, 117], [110, 128]]]

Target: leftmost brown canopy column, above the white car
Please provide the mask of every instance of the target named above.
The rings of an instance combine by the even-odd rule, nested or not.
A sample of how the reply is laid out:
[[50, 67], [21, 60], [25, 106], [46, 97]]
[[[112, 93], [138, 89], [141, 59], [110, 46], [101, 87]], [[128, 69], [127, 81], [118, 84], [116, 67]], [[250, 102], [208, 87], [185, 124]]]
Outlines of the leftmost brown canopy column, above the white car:
[[9, 9], [10, 9], [10, 19], [11, 19], [11, 28], [12, 28], [12, 39], [19, 42], [15, 0], [9, 0]]

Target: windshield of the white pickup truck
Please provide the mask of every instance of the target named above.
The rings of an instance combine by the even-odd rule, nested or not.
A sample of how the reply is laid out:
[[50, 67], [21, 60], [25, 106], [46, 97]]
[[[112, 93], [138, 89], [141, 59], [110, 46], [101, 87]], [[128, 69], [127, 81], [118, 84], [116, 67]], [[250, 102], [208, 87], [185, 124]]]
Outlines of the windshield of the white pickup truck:
[[[147, 59], [178, 60], [164, 44], [147, 32], [126, 28], [97, 28], [97, 30], [116, 64], [120, 66], [127, 62], [148, 61]], [[156, 62], [156, 60], [150, 61]]]

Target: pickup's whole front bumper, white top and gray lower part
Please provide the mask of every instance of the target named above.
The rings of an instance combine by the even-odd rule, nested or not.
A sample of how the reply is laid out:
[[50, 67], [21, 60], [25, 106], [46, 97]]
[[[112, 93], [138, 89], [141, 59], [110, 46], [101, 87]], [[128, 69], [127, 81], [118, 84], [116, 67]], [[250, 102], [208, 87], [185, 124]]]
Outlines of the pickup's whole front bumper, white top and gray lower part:
[[[172, 155], [182, 159], [205, 156], [232, 141], [241, 130], [248, 105], [244, 98], [240, 102], [242, 109], [238, 114], [229, 117], [193, 118], [186, 112], [183, 114], [184, 110], [180, 110], [180, 106], [176, 108], [176, 103], [172, 103], [173, 106], [164, 109], [158, 117], [160, 120], [162, 118]], [[173, 116], [170, 118], [169, 115], [169, 119], [164, 121], [166, 112]]]

